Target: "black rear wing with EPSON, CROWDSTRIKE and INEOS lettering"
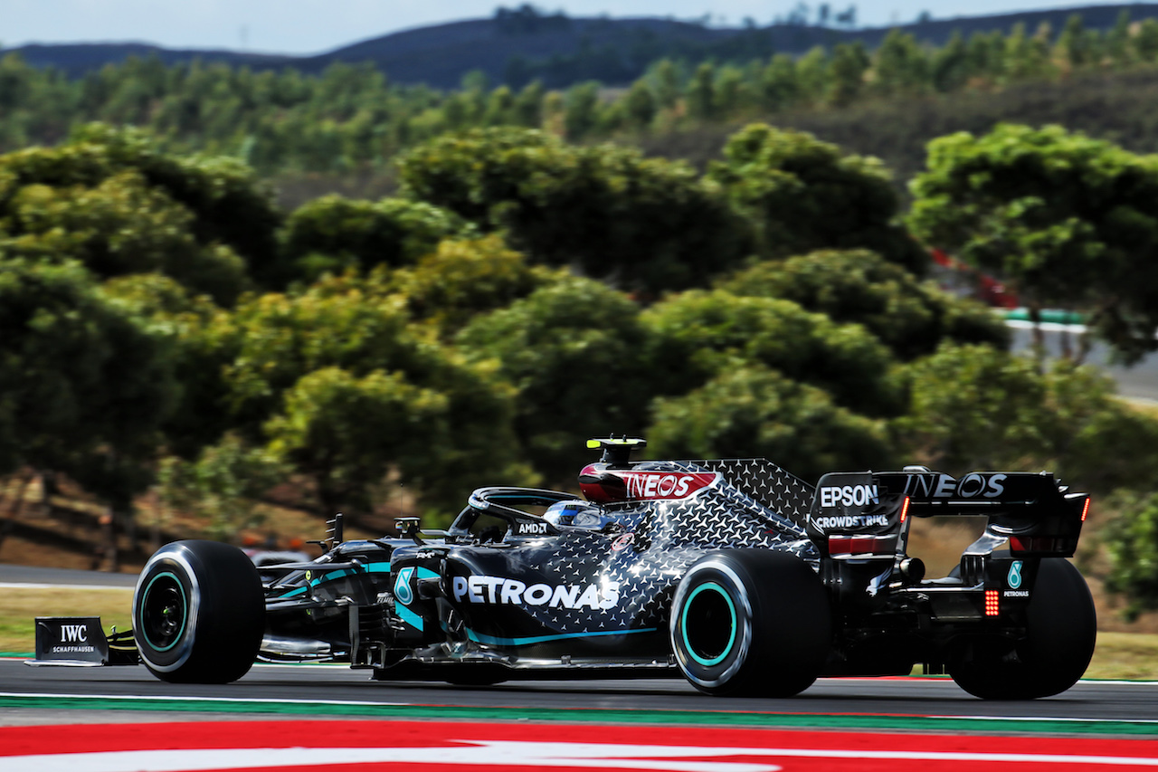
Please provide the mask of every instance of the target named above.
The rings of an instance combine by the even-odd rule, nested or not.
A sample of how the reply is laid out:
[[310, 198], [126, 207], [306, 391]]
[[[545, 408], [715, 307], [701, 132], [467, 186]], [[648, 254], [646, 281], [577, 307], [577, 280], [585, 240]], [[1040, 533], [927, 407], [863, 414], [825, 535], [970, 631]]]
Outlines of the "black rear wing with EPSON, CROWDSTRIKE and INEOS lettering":
[[834, 538], [842, 548], [853, 538], [887, 547], [909, 517], [983, 516], [987, 534], [1007, 539], [1013, 555], [1070, 558], [1089, 510], [1089, 494], [1070, 493], [1048, 472], [972, 472], [958, 479], [910, 467], [826, 474], [806, 529], [822, 548]]

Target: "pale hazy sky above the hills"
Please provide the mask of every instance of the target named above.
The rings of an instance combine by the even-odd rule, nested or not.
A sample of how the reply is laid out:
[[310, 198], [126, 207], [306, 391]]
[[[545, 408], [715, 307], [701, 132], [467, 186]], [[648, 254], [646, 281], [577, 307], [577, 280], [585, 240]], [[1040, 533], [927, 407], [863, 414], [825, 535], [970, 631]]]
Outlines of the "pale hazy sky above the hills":
[[[233, 49], [322, 53], [388, 32], [493, 15], [522, 0], [0, 0], [0, 48], [25, 43], [138, 41], [175, 49]], [[813, 9], [820, 0], [806, 5]], [[860, 27], [979, 16], [1122, 0], [835, 0], [857, 7]], [[545, 0], [533, 3], [570, 16], [674, 16], [739, 27], [745, 17], [767, 26], [798, 0]]]

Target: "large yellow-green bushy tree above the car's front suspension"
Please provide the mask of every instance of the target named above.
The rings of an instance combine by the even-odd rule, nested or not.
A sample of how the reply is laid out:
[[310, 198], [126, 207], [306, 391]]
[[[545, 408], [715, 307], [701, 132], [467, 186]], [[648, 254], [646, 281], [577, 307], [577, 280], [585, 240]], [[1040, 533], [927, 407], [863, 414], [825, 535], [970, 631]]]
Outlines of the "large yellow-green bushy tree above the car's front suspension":
[[233, 425], [309, 475], [331, 514], [366, 511], [391, 473], [442, 511], [527, 479], [508, 389], [412, 327], [405, 298], [351, 275], [250, 298], [232, 321]]

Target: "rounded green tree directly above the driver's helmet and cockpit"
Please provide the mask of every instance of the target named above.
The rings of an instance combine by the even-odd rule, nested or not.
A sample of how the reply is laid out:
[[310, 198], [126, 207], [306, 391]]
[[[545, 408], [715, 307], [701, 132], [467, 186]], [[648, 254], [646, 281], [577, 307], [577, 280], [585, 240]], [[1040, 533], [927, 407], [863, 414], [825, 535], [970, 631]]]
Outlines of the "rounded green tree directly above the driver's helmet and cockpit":
[[516, 389], [515, 430], [548, 480], [581, 465], [580, 435], [638, 432], [655, 373], [645, 358], [639, 309], [620, 292], [571, 278], [476, 318], [459, 335], [475, 362], [493, 360]]

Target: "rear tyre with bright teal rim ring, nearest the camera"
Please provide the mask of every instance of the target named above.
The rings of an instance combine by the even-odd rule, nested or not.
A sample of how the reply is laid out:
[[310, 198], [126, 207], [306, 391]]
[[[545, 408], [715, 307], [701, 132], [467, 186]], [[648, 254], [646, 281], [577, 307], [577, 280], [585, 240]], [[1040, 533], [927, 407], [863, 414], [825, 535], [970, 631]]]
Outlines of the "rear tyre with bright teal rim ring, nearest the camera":
[[672, 603], [684, 677], [717, 695], [791, 697], [816, 679], [833, 636], [824, 587], [783, 552], [727, 549], [698, 560]]

